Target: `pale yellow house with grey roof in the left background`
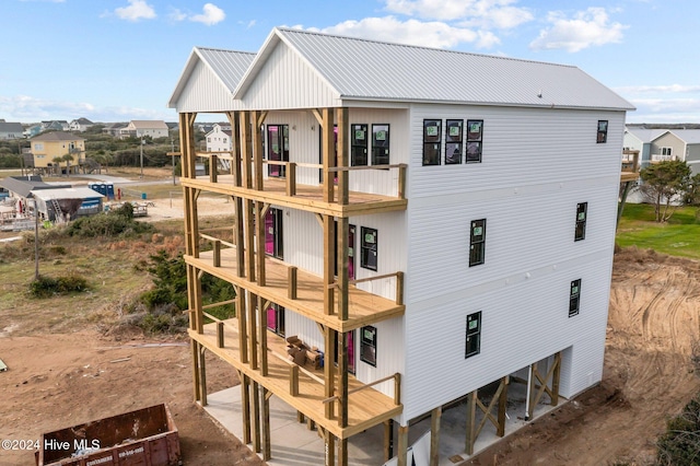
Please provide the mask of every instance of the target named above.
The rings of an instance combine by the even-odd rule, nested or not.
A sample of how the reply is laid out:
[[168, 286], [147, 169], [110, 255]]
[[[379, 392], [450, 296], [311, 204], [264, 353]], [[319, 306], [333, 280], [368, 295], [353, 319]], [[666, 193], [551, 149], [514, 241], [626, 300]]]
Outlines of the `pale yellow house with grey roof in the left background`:
[[[78, 173], [85, 162], [85, 140], [70, 132], [52, 131], [35, 136], [31, 140], [35, 168], [66, 173]], [[72, 154], [70, 162], [54, 162], [54, 159]]]

